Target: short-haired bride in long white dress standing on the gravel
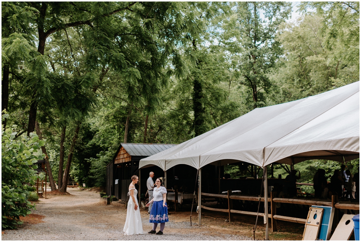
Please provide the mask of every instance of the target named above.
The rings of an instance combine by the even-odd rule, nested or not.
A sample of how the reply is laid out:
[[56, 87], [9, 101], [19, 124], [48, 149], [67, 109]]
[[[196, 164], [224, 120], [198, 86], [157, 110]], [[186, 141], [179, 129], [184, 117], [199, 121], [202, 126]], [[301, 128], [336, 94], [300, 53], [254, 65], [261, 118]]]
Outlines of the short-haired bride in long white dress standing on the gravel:
[[125, 220], [125, 225], [123, 232], [125, 235], [135, 235], [143, 234], [142, 218], [140, 217], [139, 205], [136, 200], [136, 195], [138, 191], [135, 189], [135, 184], [138, 183], [138, 177], [132, 176], [132, 182], [129, 185], [130, 195], [127, 207], [127, 218]]

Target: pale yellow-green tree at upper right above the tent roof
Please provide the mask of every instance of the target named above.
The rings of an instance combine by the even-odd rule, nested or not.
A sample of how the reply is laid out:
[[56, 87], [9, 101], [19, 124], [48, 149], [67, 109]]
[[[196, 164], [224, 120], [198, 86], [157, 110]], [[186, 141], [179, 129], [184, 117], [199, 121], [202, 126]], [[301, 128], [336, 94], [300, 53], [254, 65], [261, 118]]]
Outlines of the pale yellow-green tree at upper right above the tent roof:
[[[316, 8], [316, 12], [305, 9]], [[359, 3], [303, 3], [302, 17], [277, 36], [284, 60], [273, 79], [280, 102], [304, 98], [359, 80]]]

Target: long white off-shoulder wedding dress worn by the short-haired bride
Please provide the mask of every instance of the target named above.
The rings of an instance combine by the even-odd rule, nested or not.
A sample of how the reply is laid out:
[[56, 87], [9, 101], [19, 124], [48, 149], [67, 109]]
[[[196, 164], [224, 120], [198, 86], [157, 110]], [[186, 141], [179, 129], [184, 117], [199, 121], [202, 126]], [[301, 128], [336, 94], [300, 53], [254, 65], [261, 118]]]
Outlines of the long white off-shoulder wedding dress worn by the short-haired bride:
[[[138, 191], [134, 189], [134, 197], [138, 194]], [[130, 190], [128, 196], [130, 196]], [[135, 199], [136, 204], [138, 205], [138, 201]], [[125, 235], [135, 235], [135, 234], [143, 234], [143, 226], [142, 226], [142, 218], [140, 217], [139, 205], [138, 209], [134, 209], [134, 202], [132, 198], [129, 198], [128, 206], [127, 206], [127, 218], [125, 220], [125, 225], [123, 232]]]

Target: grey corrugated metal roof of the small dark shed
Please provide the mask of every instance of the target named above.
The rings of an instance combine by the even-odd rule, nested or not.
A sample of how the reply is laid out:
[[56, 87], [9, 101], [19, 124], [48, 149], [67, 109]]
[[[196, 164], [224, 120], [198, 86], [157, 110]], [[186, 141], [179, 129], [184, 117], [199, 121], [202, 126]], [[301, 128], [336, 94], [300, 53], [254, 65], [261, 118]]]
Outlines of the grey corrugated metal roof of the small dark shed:
[[139, 143], [121, 143], [121, 146], [131, 156], [151, 156], [161, 151], [168, 150], [177, 144], [139, 144]]

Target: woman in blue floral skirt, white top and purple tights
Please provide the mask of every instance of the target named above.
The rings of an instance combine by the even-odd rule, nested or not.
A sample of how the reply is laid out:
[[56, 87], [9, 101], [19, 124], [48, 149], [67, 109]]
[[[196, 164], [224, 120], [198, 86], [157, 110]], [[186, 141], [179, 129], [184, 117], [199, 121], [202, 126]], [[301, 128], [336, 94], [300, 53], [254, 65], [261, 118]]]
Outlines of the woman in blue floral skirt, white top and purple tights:
[[[145, 205], [149, 207], [153, 203], [149, 222], [153, 223], [153, 229], [149, 234], [163, 234], [165, 222], [168, 222], [168, 207], [166, 200], [167, 189], [163, 185], [164, 178], [160, 177], [156, 180], [156, 187], [153, 190], [153, 199]], [[157, 225], [160, 224], [160, 230], [156, 233]]]

